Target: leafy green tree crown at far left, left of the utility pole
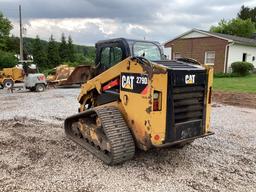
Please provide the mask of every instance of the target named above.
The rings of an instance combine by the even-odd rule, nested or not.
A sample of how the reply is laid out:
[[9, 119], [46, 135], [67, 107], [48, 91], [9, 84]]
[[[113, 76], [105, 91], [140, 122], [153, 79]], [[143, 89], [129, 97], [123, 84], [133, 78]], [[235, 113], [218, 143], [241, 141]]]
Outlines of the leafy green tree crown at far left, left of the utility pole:
[[0, 49], [6, 48], [6, 42], [12, 30], [11, 22], [0, 12]]

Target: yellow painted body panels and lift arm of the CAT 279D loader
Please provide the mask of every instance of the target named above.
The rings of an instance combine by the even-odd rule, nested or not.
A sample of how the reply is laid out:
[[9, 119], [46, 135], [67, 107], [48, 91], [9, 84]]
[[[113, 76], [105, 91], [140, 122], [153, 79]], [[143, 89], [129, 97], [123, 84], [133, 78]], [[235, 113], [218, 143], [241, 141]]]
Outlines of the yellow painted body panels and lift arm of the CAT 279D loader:
[[[140, 149], [148, 150], [152, 146], [162, 147], [182, 143], [186, 141], [194, 140], [198, 137], [204, 137], [210, 132], [210, 112], [211, 112], [211, 89], [212, 89], [212, 76], [213, 69], [206, 69], [207, 74], [207, 93], [204, 95], [205, 109], [203, 120], [204, 127], [203, 134], [195, 137], [184, 138], [174, 142], [166, 141], [167, 123], [172, 123], [174, 119], [170, 119], [167, 122], [168, 106], [168, 73], [167, 67], [159, 65], [157, 63], [148, 64], [143, 66], [137, 60], [131, 60], [130, 58], [116, 64], [95, 78], [89, 80], [81, 87], [81, 92], [78, 100], [81, 104], [80, 111], [84, 111], [85, 101], [88, 100], [88, 95], [92, 91], [96, 91], [98, 94], [102, 93], [102, 87], [116, 78], [120, 78], [122, 73], [127, 74], [141, 74], [148, 77], [146, 90], [143, 93], [134, 93], [127, 90], [120, 90], [120, 98], [118, 101], [110, 102], [102, 106], [110, 105], [117, 107], [128, 127], [131, 129], [137, 146]], [[136, 79], [133, 79], [135, 81]], [[120, 79], [120, 82], [122, 79]], [[132, 82], [128, 82], [127, 85], [132, 89]], [[130, 80], [131, 81], [131, 80]], [[120, 85], [122, 86], [122, 85]], [[154, 92], [161, 93], [160, 110], [153, 110]], [[91, 97], [91, 96], [90, 96]], [[93, 97], [90, 99], [93, 100]], [[96, 101], [93, 101], [96, 102]]]

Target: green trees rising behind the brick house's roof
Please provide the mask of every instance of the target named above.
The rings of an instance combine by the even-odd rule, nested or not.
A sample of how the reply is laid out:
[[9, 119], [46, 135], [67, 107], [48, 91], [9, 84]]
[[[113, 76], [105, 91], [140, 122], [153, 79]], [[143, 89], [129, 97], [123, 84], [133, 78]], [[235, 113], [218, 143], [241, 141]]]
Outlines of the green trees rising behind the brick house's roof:
[[217, 26], [212, 26], [210, 31], [247, 38], [255, 37], [256, 7], [250, 8], [243, 5], [236, 18], [222, 19]]

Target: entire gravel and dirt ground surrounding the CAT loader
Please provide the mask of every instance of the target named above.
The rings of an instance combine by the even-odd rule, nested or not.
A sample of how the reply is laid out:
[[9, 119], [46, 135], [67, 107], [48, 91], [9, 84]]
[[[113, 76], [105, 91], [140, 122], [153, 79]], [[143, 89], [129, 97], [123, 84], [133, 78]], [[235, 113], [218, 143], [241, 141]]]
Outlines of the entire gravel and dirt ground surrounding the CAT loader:
[[255, 109], [214, 104], [215, 135], [109, 167], [64, 135], [78, 93], [0, 90], [0, 191], [255, 191]]

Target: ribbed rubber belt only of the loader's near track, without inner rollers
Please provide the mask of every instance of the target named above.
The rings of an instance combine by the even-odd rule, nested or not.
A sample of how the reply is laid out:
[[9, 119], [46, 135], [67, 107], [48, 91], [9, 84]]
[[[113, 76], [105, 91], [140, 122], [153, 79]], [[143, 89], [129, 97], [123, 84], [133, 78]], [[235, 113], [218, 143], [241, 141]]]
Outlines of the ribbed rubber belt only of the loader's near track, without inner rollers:
[[[102, 122], [103, 131], [111, 145], [111, 155], [107, 156], [99, 151], [83, 138], [74, 137], [71, 134], [71, 124], [80, 118], [96, 113]], [[87, 112], [82, 112], [65, 120], [65, 132], [74, 142], [90, 151], [104, 163], [109, 165], [119, 164], [132, 159], [135, 153], [135, 144], [132, 134], [124, 121], [122, 114], [115, 107], [92, 108]]]

